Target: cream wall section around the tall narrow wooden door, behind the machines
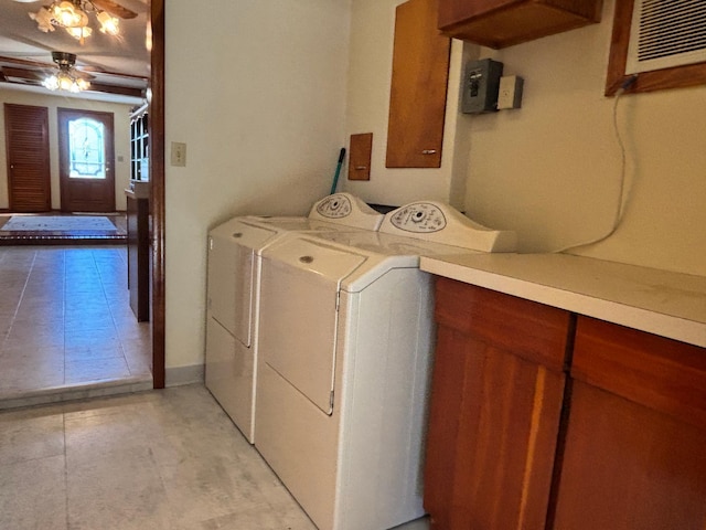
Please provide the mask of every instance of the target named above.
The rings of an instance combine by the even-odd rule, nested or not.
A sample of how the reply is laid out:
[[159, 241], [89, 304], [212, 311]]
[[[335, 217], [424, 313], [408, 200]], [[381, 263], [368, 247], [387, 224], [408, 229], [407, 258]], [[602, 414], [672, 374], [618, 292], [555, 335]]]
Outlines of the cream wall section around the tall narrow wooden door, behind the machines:
[[370, 181], [349, 181], [342, 173], [341, 189], [367, 202], [400, 205], [417, 199], [451, 202], [462, 208], [462, 193], [451, 193], [464, 186], [467, 160], [454, 155], [458, 127], [458, 94], [462, 46], [454, 41], [451, 50], [445, 144], [439, 169], [386, 169], [387, 119], [395, 26], [395, 8], [403, 0], [354, 0], [351, 21], [351, 63], [346, 102], [347, 135], [373, 132]]

